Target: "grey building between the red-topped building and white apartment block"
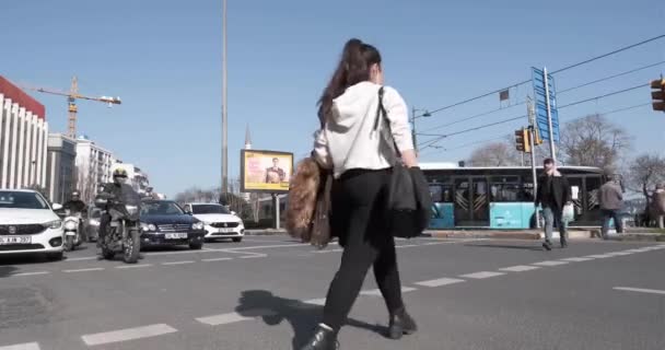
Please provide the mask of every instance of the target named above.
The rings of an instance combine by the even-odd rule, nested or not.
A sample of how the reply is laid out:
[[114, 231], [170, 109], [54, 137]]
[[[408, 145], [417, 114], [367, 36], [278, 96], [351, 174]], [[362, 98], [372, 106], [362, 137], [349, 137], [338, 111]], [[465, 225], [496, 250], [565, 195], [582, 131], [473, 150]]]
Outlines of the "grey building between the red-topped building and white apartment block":
[[77, 140], [65, 135], [48, 136], [46, 189], [51, 202], [63, 203], [77, 188]]

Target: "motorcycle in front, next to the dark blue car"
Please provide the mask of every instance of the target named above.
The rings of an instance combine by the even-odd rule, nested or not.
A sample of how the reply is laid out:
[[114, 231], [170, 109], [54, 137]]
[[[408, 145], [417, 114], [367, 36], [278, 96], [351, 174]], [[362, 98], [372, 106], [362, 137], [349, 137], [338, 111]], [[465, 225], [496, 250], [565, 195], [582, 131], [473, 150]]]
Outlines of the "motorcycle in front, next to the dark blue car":
[[106, 234], [98, 238], [102, 256], [110, 260], [117, 253], [122, 253], [125, 262], [137, 262], [141, 250], [140, 198], [98, 197], [95, 207], [105, 209], [110, 217]]

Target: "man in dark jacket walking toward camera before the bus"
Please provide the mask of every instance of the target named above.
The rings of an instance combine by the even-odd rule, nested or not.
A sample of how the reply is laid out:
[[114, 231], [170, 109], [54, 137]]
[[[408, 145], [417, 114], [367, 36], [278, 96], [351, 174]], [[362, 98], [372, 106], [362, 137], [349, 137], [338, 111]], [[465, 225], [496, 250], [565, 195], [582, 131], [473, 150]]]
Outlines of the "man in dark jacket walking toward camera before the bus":
[[552, 249], [552, 232], [555, 224], [559, 228], [561, 247], [568, 246], [567, 240], [567, 222], [561, 220], [563, 206], [572, 200], [570, 184], [568, 178], [557, 170], [552, 159], [546, 159], [544, 162], [544, 172], [538, 177], [538, 194], [536, 196], [536, 208], [542, 206], [542, 215], [545, 217], [545, 242], [542, 247], [547, 250]]

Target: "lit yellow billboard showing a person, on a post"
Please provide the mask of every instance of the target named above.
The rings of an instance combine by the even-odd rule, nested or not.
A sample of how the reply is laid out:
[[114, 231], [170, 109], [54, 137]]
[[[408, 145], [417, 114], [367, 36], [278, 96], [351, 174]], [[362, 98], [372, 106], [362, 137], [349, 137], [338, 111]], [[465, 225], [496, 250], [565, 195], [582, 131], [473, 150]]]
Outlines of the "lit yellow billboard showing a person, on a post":
[[241, 191], [280, 194], [289, 191], [293, 153], [241, 151]]

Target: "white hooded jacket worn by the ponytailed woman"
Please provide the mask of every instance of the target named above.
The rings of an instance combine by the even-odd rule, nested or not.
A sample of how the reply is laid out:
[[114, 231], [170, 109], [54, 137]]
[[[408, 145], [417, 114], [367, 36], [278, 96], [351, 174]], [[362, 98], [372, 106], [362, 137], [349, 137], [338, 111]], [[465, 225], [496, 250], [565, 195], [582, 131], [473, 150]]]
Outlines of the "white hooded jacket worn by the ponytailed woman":
[[407, 105], [399, 93], [384, 88], [383, 105], [393, 138], [384, 132], [384, 120], [374, 131], [378, 90], [381, 85], [365, 81], [350, 86], [332, 102], [326, 126], [314, 135], [314, 154], [326, 168], [332, 168], [338, 178], [348, 170], [382, 170], [393, 166], [396, 160], [393, 139], [400, 152], [412, 150]]

